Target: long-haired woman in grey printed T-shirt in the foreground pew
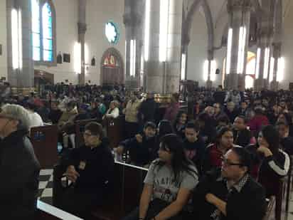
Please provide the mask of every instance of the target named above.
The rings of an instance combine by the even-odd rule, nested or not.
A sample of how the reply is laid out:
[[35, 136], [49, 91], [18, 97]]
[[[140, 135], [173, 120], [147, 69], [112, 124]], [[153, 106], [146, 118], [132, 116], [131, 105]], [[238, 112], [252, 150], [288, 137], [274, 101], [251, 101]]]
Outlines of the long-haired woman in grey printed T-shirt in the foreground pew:
[[144, 179], [139, 208], [124, 220], [183, 219], [181, 211], [198, 184], [196, 167], [186, 159], [182, 140], [174, 134], [161, 138], [159, 159]]

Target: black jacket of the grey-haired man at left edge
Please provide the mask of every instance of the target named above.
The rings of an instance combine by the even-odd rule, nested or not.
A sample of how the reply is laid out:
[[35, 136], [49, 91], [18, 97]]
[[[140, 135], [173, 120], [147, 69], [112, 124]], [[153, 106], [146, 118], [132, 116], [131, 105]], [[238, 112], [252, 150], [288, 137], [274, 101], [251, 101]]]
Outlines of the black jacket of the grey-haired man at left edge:
[[0, 142], [1, 219], [28, 219], [36, 210], [40, 164], [27, 134], [18, 130]]

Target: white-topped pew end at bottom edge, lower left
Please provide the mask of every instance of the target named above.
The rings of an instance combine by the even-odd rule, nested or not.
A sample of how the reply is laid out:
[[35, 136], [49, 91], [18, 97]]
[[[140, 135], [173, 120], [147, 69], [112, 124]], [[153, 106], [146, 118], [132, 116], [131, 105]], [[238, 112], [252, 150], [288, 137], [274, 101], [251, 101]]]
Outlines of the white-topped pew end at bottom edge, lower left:
[[46, 204], [43, 201], [38, 200], [37, 211], [35, 220], [58, 220], [58, 219], [70, 219], [70, 220], [82, 220], [77, 216], [73, 216], [68, 212], [60, 210], [50, 204]]

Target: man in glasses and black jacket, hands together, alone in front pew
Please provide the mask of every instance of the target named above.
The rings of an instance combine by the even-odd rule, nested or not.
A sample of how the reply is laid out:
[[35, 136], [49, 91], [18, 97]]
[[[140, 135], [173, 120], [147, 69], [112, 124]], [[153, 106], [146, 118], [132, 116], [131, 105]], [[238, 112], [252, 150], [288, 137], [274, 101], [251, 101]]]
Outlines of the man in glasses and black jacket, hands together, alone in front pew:
[[62, 164], [73, 187], [65, 191], [62, 209], [87, 219], [95, 206], [102, 204], [112, 182], [114, 159], [103, 140], [102, 125], [85, 125], [85, 146], [73, 149]]

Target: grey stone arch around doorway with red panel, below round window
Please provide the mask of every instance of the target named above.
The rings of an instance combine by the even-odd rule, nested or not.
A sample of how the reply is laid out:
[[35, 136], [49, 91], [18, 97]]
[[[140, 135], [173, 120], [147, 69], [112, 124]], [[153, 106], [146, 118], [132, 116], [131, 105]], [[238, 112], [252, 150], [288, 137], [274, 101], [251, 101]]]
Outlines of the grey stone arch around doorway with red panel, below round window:
[[[105, 66], [105, 60], [107, 57], [109, 57], [109, 55], [113, 55], [115, 58], [117, 58], [117, 62], [119, 62], [119, 66]], [[105, 84], [107, 83], [104, 82], [106, 79], [105, 79], [105, 76], [103, 76], [104, 74], [107, 74], [105, 73], [105, 68], [117, 68], [117, 73], [120, 74], [120, 79], [119, 81], [124, 84], [124, 61], [123, 61], [123, 56], [122, 54], [114, 47], [112, 48], [108, 48], [102, 55], [102, 58], [101, 58], [101, 61], [100, 61], [100, 84]], [[103, 81], [104, 80], [104, 81]]]

